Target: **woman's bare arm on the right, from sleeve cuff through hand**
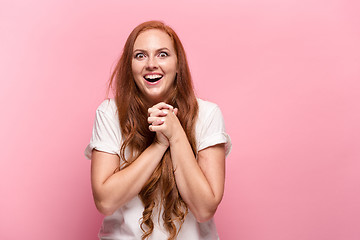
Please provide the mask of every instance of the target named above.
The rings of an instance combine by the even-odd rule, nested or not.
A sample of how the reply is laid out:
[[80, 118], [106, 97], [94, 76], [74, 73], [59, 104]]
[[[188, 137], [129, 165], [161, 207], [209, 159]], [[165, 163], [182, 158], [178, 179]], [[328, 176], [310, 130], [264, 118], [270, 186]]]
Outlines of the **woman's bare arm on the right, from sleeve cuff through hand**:
[[[161, 109], [157, 104], [150, 109]], [[162, 124], [150, 126], [150, 130], [162, 133], [169, 140], [176, 184], [184, 201], [199, 222], [209, 220], [222, 199], [225, 181], [225, 147], [218, 144], [203, 149], [198, 159], [192, 152], [187, 136], [176, 117], [176, 111], [167, 111]], [[149, 118], [149, 122], [156, 121]]]

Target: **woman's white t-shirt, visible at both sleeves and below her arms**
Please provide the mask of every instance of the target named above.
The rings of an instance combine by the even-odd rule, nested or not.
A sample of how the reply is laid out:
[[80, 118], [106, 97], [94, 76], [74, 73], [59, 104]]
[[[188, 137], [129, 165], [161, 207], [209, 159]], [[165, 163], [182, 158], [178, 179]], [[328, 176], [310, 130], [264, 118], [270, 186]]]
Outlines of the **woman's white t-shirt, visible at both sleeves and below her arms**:
[[[219, 143], [225, 143], [226, 156], [231, 150], [231, 140], [225, 132], [224, 120], [220, 108], [211, 102], [198, 99], [199, 116], [196, 122], [196, 147], [200, 151]], [[93, 149], [120, 155], [122, 144], [121, 130], [114, 99], [107, 99], [96, 110], [96, 117], [90, 144], [85, 149], [85, 156], [91, 159]], [[144, 206], [138, 196], [119, 208], [111, 216], [103, 220], [99, 232], [100, 239], [138, 240], [143, 234], [140, 229]], [[154, 230], [149, 240], [167, 240], [167, 231], [163, 228], [162, 218], [154, 209]], [[154, 214], [155, 213], [155, 214]], [[159, 222], [158, 222], [159, 219]], [[199, 223], [189, 211], [177, 239], [184, 240], [216, 240], [219, 239], [213, 219]]]

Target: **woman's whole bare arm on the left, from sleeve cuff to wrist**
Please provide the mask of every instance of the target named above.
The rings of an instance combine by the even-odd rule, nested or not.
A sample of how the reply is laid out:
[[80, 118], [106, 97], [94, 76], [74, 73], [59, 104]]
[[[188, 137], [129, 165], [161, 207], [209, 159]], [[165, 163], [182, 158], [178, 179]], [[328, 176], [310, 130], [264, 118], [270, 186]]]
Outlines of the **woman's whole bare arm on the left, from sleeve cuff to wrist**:
[[167, 149], [158, 142], [151, 144], [130, 166], [114, 173], [119, 157], [93, 150], [91, 185], [97, 209], [111, 215], [139, 194]]

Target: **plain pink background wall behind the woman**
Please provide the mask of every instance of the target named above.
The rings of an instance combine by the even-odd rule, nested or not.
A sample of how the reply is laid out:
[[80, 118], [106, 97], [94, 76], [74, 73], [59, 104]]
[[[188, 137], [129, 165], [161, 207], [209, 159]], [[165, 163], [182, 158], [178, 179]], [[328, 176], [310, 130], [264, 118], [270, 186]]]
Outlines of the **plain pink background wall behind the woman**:
[[358, 1], [0, 2], [0, 239], [97, 239], [83, 150], [130, 31], [160, 19], [232, 138], [221, 239], [360, 239]]

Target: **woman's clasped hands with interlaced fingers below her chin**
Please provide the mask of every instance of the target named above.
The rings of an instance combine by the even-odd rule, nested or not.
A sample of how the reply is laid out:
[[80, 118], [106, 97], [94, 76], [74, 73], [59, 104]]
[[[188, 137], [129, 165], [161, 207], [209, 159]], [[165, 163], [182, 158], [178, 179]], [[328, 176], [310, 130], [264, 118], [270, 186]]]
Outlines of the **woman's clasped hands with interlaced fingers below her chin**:
[[159, 144], [169, 147], [171, 140], [182, 130], [177, 112], [177, 108], [164, 102], [148, 109], [149, 129], [156, 132], [155, 141]]

